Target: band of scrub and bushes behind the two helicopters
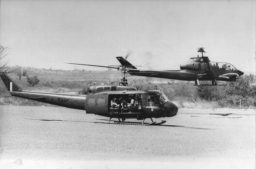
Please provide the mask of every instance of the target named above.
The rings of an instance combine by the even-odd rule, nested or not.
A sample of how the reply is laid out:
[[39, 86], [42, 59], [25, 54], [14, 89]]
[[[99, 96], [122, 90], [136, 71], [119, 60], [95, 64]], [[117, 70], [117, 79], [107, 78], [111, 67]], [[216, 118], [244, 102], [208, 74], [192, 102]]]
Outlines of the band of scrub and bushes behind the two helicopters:
[[[118, 85], [120, 81], [119, 72], [113, 70], [47, 70], [20, 66], [10, 68], [6, 67], [7, 62], [4, 62], [7, 54], [7, 48], [0, 46], [0, 71], [12, 70], [11, 73], [16, 74], [19, 80], [25, 76], [29, 87], [34, 85], [53, 87], [54, 85], [80, 88], [78, 94], [87, 94], [88, 87], [96, 82], [96, 84]], [[153, 82], [153, 79], [157, 80]], [[129, 77], [128, 80], [130, 86], [140, 90], [151, 90], [154, 85], [158, 85], [169, 99], [177, 102], [187, 100], [196, 103], [207, 100], [217, 103], [219, 107], [239, 108], [240, 104], [242, 108], [256, 107], [256, 75], [253, 74], [242, 75], [236, 82], [228, 82], [225, 86], [193, 86], [192, 82], [174, 80], [166, 82], [163, 83], [158, 78], [146, 77]]]

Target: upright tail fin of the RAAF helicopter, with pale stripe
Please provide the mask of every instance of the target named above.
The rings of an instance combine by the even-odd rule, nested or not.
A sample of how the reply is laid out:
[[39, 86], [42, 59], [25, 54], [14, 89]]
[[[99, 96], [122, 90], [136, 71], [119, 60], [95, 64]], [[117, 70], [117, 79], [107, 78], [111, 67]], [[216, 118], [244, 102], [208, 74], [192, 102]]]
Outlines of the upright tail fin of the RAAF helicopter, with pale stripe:
[[14, 80], [7, 74], [6, 71], [1, 72], [0, 77], [8, 91], [22, 91], [21, 87], [16, 84], [16, 82], [14, 82]]

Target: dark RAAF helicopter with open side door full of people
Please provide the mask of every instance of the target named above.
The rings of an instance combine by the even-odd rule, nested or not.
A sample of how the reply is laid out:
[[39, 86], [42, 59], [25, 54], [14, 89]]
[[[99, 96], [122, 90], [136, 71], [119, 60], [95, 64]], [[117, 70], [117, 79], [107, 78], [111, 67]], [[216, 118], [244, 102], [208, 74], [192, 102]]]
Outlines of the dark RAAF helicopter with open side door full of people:
[[[0, 78], [12, 96], [85, 110], [87, 114], [110, 118], [109, 122], [99, 123], [160, 125], [166, 121], [156, 123], [152, 118], [172, 117], [178, 112], [177, 106], [159, 89], [142, 91], [130, 86], [94, 85], [89, 88], [89, 95], [75, 95], [23, 90], [7, 71], [1, 72]], [[132, 109], [130, 109], [131, 103], [128, 103], [129, 98], [135, 102]], [[116, 104], [112, 104], [113, 102]], [[117, 118], [118, 121], [111, 122], [112, 118]], [[144, 123], [147, 118], [151, 119], [150, 123]], [[125, 122], [126, 119], [143, 120], [143, 122]]]

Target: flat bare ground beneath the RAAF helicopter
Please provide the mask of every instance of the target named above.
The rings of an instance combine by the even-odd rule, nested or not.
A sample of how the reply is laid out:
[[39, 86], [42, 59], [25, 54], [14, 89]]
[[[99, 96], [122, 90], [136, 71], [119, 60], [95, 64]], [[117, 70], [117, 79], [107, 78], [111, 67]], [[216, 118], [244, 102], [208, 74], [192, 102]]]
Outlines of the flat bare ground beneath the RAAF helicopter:
[[[60, 107], [0, 106], [0, 169], [255, 169], [256, 112], [180, 109], [163, 126]], [[136, 121], [136, 120], [129, 120]]]

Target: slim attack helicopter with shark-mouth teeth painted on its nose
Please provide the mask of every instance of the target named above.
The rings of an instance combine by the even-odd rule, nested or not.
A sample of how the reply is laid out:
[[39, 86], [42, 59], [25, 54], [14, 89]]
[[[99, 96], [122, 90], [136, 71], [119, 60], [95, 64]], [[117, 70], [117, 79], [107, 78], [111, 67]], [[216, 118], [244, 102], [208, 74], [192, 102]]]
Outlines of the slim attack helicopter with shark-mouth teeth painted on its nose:
[[[217, 84], [217, 81], [235, 82], [243, 72], [236, 69], [232, 64], [227, 62], [211, 62], [208, 56], [205, 56], [204, 48], [199, 48], [198, 52], [202, 56], [191, 57], [189, 61], [180, 65], [180, 70], [139, 70], [127, 61], [127, 57], [116, 57], [121, 63], [119, 66], [98, 66], [87, 64], [76, 64], [86, 66], [98, 66], [121, 70], [123, 73], [123, 84], [127, 85], [127, 74], [145, 77], [156, 77], [164, 79], [175, 79], [184, 81], [194, 81], [196, 86], [199, 85], [226, 85]], [[200, 84], [199, 81], [211, 81], [211, 84]]]

